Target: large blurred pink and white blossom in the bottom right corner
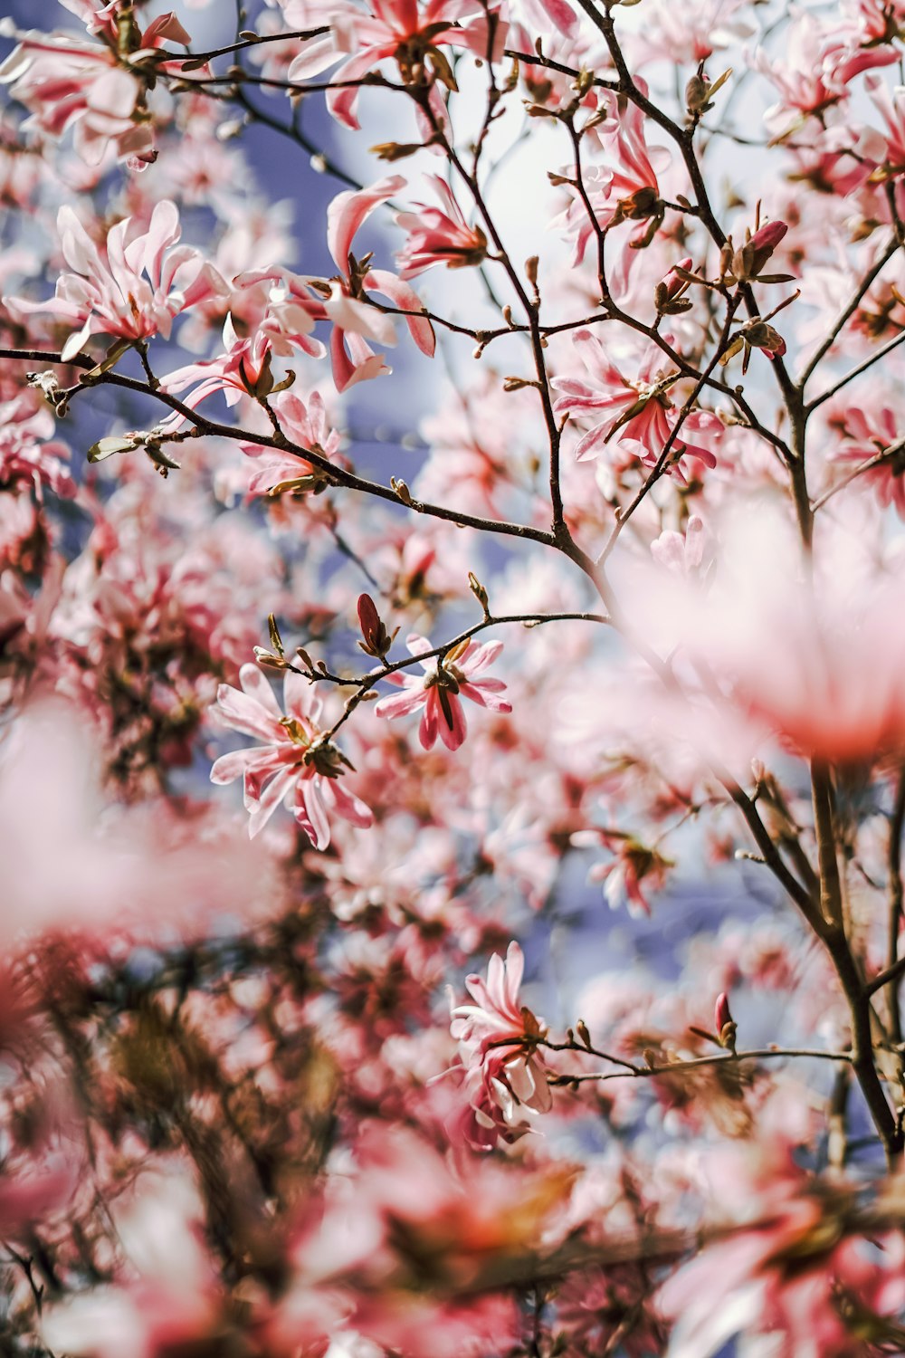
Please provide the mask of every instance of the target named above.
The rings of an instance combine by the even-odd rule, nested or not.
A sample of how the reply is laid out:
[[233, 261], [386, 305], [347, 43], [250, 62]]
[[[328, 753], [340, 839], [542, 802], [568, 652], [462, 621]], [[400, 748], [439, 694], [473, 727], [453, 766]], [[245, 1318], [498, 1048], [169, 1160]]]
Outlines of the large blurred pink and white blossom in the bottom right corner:
[[711, 1358], [741, 1332], [769, 1336], [779, 1358], [844, 1358], [868, 1351], [870, 1339], [878, 1351], [901, 1340], [901, 1230], [859, 1224], [855, 1184], [811, 1179], [792, 1161], [784, 1128], [772, 1134], [707, 1157], [703, 1173], [723, 1219], [659, 1290], [661, 1312], [676, 1321], [669, 1358]]

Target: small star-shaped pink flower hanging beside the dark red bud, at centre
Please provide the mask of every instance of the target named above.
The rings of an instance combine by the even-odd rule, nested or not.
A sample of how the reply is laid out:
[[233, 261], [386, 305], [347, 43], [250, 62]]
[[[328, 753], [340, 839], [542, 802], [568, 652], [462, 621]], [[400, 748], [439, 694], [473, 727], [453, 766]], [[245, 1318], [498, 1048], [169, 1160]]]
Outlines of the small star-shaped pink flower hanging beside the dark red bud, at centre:
[[[406, 638], [406, 645], [412, 656], [423, 655], [425, 650], [431, 649], [427, 638], [419, 637], [417, 633]], [[418, 731], [423, 748], [433, 748], [437, 736], [440, 736], [448, 750], [459, 750], [467, 733], [461, 698], [471, 698], [472, 702], [480, 708], [490, 708], [491, 712], [512, 712], [512, 703], [498, 697], [506, 689], [502, 679], [474, 678], [493, 664], [502, 649], [502, 641], [487, 641], [478, 645], [472, 638], [468, 638], [446, 652], [442, 661], [438, 659], [422, 660], [423, 679], [399, 672], [387, 675], [388, 683], [398, 684], [406, 691], [395, 698], [381, 698], [374, 708], [376, 716], [407, 717], [423, 708]]]

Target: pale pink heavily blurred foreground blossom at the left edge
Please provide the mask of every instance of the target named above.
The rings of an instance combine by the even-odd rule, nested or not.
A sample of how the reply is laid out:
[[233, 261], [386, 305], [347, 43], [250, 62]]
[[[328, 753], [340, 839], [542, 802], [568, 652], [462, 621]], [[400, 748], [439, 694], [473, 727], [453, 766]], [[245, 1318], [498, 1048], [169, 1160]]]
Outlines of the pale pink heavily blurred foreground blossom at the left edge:
[[7, 956], [47, 929], [190, 934], [266, 898], [267, 858], [231, 823], [161, 800], [114, 808], [99, 763], [84, 712], [62, 702], [28, 708], [0, 748]]

